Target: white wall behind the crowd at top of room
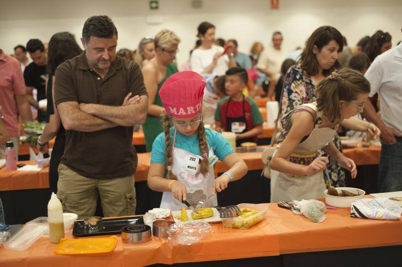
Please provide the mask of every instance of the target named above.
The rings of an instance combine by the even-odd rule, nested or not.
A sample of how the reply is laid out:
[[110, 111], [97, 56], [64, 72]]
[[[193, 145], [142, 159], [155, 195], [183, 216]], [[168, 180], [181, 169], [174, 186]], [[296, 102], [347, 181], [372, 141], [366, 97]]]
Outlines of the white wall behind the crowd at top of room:
[[[283, 47], [291, 50], [304, 44], [319, 26], [331, 25], [346, 36], [350, 45], [376, 30], [387, 31], [392, 44], [402, 40], [402, 1], [400, 0], [280, 0], [279, 10], [270, 10], [269, 0], [203, 0], [202, 9], [192, 9], [191, 0], [160, 0], [158, 11], [149, 10], [148, 0], [15, 0], [0, 6], [0, 48], [13, 53], [17, 44], [30, 38], [48, 41], [60, 31], [69, 31], [79, 42], [86, 18], [108, 15], [119, 32], [118, 48], [135, 49], [139, 40], [161, 29], [173, 30], [182, 40], [177, 61], [183, 63], [196, 41], [196, 28], [202, 21], [217, 27], [217, 38], [237, 39], [239, 50], [249, 52], [254, 41], [265, 46], [273, 31], [284, 36]], [[113, 3], [113, 4], [111, 4]], [[157, 16], [158, 25], [146, 18]]]

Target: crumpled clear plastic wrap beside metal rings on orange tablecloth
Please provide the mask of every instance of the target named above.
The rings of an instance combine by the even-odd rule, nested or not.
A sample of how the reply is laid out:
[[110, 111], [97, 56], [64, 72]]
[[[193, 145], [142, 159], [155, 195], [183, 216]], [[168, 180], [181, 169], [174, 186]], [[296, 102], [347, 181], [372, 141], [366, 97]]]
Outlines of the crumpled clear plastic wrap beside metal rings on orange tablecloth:
[[210, 232], [213, 232], [213, 228], [205, 221], [177, 222], [167, 231], [169, 242], [181, 245], [192, 245]]

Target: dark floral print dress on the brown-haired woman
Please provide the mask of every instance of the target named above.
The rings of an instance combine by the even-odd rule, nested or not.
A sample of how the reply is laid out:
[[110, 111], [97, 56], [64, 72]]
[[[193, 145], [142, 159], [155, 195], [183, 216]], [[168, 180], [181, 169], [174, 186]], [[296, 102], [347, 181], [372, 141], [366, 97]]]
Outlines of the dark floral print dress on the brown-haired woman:
[[[282, 114], [288, 113], [301, 104], [316, 101], [317, 96], [314, 93], [315, 87], [316, 84], [299, 65], [290, 67], [283, 83]], [[335, 147], [342, 153], [342, 145], [338, 133], [335, 135], [333, 141]], [[319, 152], [319, 156], [327, 157], [323, 151]], [[345, 170], [331, 157], [328, 157], [328, 160], [329, 164], [327, 165], [327, 169], [332, 180], [332, 186], [344, 187]], [[327, 179], [324, 178], [324, 180], [328, 183]], [[329, 186], [329, 184], [327, 184], [327, 186]]]

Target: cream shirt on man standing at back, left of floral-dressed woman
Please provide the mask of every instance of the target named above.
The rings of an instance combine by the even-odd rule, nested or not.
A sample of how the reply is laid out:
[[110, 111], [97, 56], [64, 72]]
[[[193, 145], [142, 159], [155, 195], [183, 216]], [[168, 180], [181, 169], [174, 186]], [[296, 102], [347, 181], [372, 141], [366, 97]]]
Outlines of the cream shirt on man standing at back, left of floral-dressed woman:
[[276, 50], [273, 47], [265, 48], [258, 58], [257, 68], [267, 69], [273, 74], [280, 74], [282, 62], [286, 59], [286, 53], [281, 50]]

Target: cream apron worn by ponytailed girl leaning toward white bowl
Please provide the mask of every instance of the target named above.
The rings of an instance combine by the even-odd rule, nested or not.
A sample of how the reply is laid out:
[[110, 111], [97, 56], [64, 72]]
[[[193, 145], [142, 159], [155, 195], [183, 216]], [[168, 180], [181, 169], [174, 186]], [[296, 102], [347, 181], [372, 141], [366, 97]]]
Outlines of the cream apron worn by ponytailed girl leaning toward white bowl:
[[[321, 118], [322, 112], [317, 111], [317, 106], [313, 104], [300, 106], [308, 106], [314, 109], [317, 112], [317, 119]], [[318, 150], [326, 147], [332, 141], [336, 130], [329, 127], [318, 128], [318, 126], [319, 124], [316, 124], [310, 136], [297, 145], [292, 157], [306, 158], [307, 161], [310, 161], [311, 158], [317, 157]], [[279, 146], [274, 154], [278, 148]], [[323, 198], [325, 189], [327, 187], [323, 172], [300, 176], [271, 170], [271, 202]]]

